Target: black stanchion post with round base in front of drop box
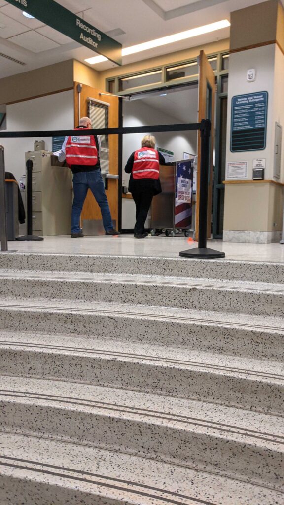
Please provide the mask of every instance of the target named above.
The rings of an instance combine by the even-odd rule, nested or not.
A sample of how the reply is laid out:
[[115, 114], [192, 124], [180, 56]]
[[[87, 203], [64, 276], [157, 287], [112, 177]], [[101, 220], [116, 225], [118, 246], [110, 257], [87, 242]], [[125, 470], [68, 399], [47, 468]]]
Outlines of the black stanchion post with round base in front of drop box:
[[211, 122], [209, 119], [201, 121], [201, 160], [200, 160], [200, 191], [199, 191], [199, 225], [198, 247], [180, 251], [182, 258], [197, 260], [213, 260], [225, 258], [225, 253], [207, 247], [207, 210], [208, 210], [208, 173], [210, 155]]

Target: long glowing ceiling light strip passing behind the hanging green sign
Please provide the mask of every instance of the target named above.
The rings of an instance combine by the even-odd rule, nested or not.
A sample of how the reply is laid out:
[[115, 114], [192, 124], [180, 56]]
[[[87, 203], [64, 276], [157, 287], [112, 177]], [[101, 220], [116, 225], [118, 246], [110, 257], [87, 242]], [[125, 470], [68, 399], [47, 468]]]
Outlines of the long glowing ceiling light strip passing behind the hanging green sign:
[[[160, 47], [161, 45], [171, 44], [173, 42], [178, 42], [179, 40], [197, 37], [198, 35], [204, 35], [205, 33], [221, 30], [222, 28], [227, 28], [228, 26], [230, 26], [230, 22], [227, 19], [222, 19], [222, 21], [217, 21], [216, 23], [210, 23], [209, 25], [199, 26], [198, 28], [192, 28], [191, 30], [174, 33], [173, 35], [168, 35], [167, 37], [149, 40], [149, 42], [143, 42], [142, 44], [124, 47], [122, 49], [122, 56], [133, 55], [134, 53], [147, 51], [147, 49], [153, 49], [153, 47]], [[92, 58], [87, 58], [84, 61], [94, 65], [96, 63], [107, 61], [107, 58], [104, 56], [94, 56]]]

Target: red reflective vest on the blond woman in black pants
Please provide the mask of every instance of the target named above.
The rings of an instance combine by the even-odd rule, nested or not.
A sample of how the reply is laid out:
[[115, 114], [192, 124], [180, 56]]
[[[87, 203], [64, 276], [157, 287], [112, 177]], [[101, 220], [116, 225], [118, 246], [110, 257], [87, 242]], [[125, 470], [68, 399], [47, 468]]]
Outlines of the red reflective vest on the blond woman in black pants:
[[141, 147], [134, 153], [133, 179], [159, 179], [159, 153], [151, 147]]

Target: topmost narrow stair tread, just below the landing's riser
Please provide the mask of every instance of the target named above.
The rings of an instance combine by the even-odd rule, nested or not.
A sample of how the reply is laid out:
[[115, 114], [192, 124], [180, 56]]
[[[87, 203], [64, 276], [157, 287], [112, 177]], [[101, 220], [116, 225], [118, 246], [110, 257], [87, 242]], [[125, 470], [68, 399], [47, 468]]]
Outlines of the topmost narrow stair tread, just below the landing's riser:
[[241, 281], [228, 279], [211, 279], [197, 277], [176, 277], [161, 275], [138, 275], [120, 273], [84, 273], [84, 272], [57, 272], [57, 271], [31, 271], [31, 270], [1, 270], [0, 279], [37, 279], [56, 281], [82, 281], [82, 282], [109, 282], [129, 284], [171, 285], [183, 287], [197, 287], [209, 289], [230, 289], [238, 291], [257, 291], [274, 294], [284, 294], [284, 284], [272, 282]]

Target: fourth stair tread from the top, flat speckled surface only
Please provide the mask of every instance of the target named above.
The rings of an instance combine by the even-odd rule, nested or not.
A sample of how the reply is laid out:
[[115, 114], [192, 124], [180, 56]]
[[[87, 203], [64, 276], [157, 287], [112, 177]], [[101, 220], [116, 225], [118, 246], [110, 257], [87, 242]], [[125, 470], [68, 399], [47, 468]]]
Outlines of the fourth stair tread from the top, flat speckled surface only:
[[[284, 451], [284, 420], [278, 416], [198, 400], [47, 380], [0, 376], [1, 401], [44, 405], [96, 415], [167, 425], [175, 429]], [[143, 407], [141, 407], [143, 406]]]

